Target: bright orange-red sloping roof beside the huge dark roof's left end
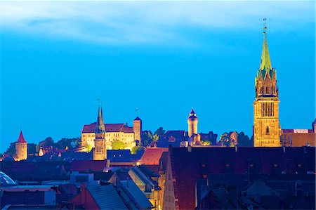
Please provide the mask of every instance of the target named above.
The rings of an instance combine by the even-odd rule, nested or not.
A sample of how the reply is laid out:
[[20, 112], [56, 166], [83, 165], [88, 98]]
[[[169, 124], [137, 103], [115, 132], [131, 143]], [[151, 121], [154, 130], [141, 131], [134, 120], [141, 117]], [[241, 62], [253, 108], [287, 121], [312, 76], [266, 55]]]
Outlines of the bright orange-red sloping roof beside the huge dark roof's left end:
[[168, 152], [168, 148], [163, 148], [163, 147], [147, 148], [143, 156], [140, 158], [140, 164], [159, 165], [159, 159], [160, 157], [162, 157], [162, 152]]

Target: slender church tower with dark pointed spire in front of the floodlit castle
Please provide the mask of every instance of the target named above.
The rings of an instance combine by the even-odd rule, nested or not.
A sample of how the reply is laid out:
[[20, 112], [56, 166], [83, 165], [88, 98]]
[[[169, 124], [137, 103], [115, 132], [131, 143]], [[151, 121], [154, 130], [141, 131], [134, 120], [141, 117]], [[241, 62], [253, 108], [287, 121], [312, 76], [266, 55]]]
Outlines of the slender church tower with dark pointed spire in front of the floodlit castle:
[[105, 145], [105, 125], [103, 121], [102, 107], [98, 109], [96, 122], [96, 139], [94, 140], [93, 160], [107, 159], [107, 147]]

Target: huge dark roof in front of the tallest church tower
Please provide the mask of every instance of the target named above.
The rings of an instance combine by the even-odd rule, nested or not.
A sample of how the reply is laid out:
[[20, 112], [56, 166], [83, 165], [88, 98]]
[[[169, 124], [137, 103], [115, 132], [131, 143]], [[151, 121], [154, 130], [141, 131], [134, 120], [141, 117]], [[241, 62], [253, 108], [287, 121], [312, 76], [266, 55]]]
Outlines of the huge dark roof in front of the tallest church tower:
[[180, 209], [195, 208], [195, 183], [203, 174], [245, 174], [249, 164], [253, 174], [315, 171], [315, 147], [171, 147], [169, 154]]

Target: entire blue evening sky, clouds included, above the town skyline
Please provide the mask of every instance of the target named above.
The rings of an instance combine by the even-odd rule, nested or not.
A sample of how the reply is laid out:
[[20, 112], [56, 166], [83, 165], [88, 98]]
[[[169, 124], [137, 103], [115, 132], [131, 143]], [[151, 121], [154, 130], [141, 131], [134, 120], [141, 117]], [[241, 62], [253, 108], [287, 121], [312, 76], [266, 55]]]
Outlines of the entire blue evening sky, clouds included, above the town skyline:
[[263, 18], [283, 129], [315, 119], [314, 1], [1, 1], [1, 150], [96, 121], [252, 134]]

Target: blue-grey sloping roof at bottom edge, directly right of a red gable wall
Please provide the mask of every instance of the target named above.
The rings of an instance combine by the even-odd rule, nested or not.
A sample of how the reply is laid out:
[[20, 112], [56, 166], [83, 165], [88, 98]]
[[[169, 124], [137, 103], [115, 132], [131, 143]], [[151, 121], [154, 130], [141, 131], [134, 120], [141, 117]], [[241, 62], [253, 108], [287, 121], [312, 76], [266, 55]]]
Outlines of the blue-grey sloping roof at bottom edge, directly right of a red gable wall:
[[87, 185], [93, 199], [100, 209], [126, 209], [127, 207], [117, 194], [112, 184], [109, 185]]

